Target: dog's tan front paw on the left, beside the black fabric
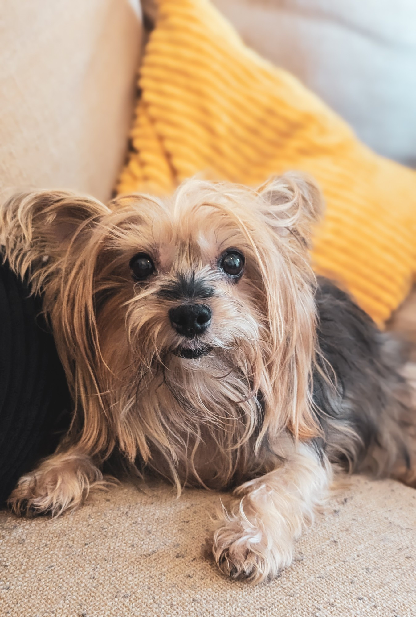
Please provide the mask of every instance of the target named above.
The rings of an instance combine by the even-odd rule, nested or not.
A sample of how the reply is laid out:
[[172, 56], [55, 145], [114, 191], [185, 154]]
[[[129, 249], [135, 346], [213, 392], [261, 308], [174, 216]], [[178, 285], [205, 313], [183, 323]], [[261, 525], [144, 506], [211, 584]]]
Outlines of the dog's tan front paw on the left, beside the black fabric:
[[80, 506], [91, 489], [106, 484], [92, 458], [73, 448], [45, 458], [35, 470], [22, 476], [9, 497], [9, 505], [18, 516], [59, 516]]

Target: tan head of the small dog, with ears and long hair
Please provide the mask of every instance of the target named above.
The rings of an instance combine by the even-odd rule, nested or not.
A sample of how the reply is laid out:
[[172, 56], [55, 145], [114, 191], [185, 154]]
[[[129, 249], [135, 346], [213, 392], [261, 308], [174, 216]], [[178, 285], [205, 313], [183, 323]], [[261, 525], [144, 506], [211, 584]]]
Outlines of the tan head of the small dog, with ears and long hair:
[[[171, 413], [162, 387], [188, 420], [214, 409], [218, 422], [221, 405], [255, 400], [261, 434], [313, 433], [308, 246], [320, 197], [310, 181], [285, 175], [255, 191], [189, 180], [170, 199], [130, 195], [110, 207], [42, 191], [1, 213], [4, 254], [45, 294], [74, 396], [101, 406], [93, 421], [84, 410], [86, 439], [103, 411], [119, 428], [130, 418], [124, 433], [149, 432], [152, 410], [133, 416], [145, 392], [158, 416]], [[146, 450], [147, 438], [136, 446]], [[130, 450], [128, 437], [117, 439]]]

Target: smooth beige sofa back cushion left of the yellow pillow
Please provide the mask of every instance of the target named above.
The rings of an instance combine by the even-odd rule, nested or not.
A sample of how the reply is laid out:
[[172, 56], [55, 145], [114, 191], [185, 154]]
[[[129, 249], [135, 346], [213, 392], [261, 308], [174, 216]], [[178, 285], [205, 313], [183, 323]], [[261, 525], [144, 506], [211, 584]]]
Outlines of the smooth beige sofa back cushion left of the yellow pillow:
[[132, 118], [139, 0], [10, 0], [0, 41], [0, 189], [108, 199]]

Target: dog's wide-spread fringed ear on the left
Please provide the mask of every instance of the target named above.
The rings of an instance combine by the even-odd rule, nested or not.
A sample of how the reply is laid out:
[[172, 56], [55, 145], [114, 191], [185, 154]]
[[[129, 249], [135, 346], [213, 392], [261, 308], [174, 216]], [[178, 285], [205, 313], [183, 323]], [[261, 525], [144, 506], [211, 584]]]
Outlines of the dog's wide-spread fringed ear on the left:
[[16, 194], [0, 206], [0, 245], [4, 259], [20, 276], [36, 277], [71, 251], [80, 251], [93, 228], [110, 210], [92, 197], [69, 191]]

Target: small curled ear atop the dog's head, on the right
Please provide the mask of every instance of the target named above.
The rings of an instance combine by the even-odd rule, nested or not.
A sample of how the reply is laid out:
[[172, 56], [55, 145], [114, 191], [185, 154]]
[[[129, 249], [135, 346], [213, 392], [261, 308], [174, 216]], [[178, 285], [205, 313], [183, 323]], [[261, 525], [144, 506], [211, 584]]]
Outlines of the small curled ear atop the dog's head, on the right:
[[275, 233], [308, 248], [314, 223], [323, 212], [323, 197], [308, 175], [298, 172], [274, 176], [258, 190], [261, 212]]

